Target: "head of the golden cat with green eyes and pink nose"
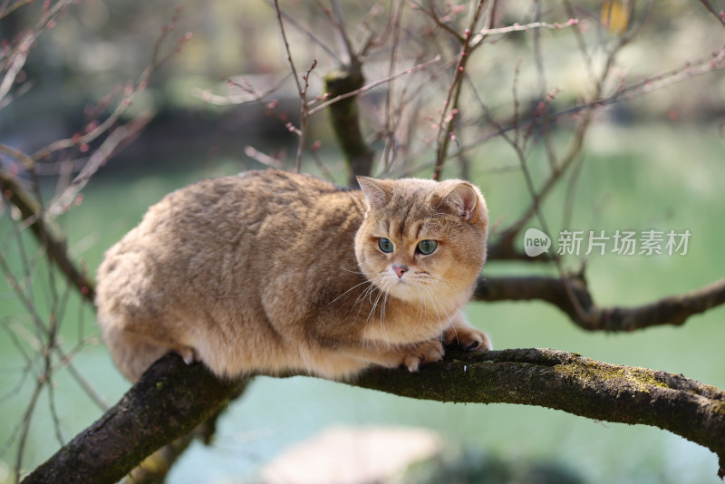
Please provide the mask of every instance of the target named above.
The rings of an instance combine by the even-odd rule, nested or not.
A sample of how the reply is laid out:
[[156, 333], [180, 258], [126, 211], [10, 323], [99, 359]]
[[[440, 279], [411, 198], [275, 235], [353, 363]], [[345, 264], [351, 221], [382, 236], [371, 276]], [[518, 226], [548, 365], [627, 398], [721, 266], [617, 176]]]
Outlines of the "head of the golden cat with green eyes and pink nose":
[[468, 297], [486, 260], [480, 190], [459, 179], [358, 181], [369, 205], [355, 236], [364, 275], [407, 301]]

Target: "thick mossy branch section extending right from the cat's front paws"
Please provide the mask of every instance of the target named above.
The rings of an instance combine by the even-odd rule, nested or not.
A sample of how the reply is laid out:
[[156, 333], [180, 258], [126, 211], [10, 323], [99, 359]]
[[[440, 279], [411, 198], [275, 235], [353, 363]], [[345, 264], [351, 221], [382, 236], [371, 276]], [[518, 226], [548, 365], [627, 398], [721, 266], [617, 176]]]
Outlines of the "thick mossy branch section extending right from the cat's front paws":
[[353, 384], [417, 399], [536, 405], [651, 425], [715, 452], [718, 475], [725, 476], [725, 392], [681, 375], [518, 349], [449, 354], [420, 373], [374, 369]]

